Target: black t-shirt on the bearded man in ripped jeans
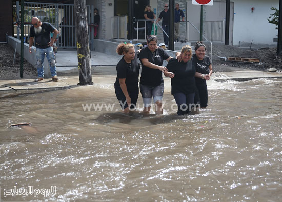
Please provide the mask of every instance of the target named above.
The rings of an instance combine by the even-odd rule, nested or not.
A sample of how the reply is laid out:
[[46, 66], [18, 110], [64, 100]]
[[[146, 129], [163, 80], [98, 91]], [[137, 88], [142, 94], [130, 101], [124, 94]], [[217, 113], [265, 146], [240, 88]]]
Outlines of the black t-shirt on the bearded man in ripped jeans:
[[56, 28], [47, 22], [42, 22], [41, 32], [35, 34], [34, 26], [30, 27], [29, 37], [35, 37], [36, 48], [48, 48], [48, 43], [51, 41], [50, 32], [53, 32]]

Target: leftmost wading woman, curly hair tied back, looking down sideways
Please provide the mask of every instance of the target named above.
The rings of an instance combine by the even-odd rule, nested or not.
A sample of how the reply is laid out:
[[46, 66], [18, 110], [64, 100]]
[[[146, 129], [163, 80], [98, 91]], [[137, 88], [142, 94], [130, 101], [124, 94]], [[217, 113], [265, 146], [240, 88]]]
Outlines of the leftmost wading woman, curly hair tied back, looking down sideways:
[[132, 44], [120, 43], [116, 52], [124, 55], [116, 65], [116, 80], [114, 83], [115, 95], [122, 106], [122, 110], [128, 113], [136, 107], [139, 88], [140, 65], [137, 61], [135, 49]]

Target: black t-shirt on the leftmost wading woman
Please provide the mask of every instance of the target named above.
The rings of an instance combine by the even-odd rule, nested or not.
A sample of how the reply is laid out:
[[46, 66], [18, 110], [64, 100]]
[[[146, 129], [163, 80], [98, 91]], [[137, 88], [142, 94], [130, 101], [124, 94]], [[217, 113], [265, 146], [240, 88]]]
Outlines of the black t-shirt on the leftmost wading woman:
[[117, 76], [114, 85], [120, 86], [118, 79], [125, 78], [125, 84], [128, 89], [138, 88], [139, 70], [140, 65], [136, 54], [131, 63], [127, 63], [123, 57], [116, 65]]

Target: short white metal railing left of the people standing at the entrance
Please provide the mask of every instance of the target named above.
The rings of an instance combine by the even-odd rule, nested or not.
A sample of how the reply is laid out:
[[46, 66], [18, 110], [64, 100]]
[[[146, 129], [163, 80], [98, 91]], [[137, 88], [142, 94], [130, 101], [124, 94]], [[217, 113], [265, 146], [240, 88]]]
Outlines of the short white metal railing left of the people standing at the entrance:
[[111, 38], [127, 39], [127, 16], [111, 17]]

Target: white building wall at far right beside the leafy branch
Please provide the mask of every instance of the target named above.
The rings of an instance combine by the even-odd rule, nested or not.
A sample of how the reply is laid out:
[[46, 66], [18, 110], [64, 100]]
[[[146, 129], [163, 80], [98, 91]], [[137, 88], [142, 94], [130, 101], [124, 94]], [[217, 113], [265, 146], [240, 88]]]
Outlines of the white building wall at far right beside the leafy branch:
[[[234, 0], [234, 30], [233, 44], [277, 44], [273, 42], [278, 31], [274, 24], [270, 24], [267, 18], [274, 11], [271, 7], [279, 8], [279, 0]], [[254, 12], [251, 8], [254, 7]]]

